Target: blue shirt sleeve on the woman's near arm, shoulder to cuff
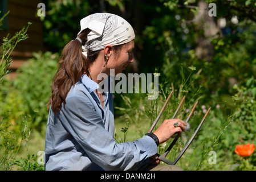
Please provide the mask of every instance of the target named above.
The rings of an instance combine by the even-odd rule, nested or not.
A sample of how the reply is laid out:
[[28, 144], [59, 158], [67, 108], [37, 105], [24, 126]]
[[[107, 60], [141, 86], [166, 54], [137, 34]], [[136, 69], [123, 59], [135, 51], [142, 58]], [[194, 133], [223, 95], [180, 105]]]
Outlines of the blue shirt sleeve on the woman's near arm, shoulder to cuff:
[[155, 141], [148, 136], [117, 144], [105, 130], [94, 105], [84, 97], [66, 98], [60, 117], [92, 162], [104, 170], [128, 170], [157, 153]]

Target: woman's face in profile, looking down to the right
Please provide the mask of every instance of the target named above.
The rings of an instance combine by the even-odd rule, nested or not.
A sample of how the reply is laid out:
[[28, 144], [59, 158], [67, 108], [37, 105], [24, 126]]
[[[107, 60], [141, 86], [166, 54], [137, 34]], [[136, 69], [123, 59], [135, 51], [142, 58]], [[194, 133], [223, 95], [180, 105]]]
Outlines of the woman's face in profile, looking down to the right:
[[113, 55], [109, 57], [107, 69], [115, 69], [115, 75], [121, 73], [129, 63], [133, 63], [134, 40], [125, 44], [119, 51], [113, 51]]

